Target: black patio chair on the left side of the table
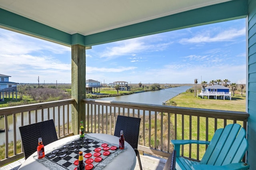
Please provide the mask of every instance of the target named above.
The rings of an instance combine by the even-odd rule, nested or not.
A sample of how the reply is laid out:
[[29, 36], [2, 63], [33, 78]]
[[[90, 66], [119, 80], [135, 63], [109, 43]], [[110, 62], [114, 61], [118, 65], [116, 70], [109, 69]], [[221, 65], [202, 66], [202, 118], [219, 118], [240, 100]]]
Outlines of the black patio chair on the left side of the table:
[[53, 120], [46, 120], [26, 126], [20, 126], [20, 136], [25, 159], [36, 152], [38, 138], [42, 138], [44, 145], [58, 140]]

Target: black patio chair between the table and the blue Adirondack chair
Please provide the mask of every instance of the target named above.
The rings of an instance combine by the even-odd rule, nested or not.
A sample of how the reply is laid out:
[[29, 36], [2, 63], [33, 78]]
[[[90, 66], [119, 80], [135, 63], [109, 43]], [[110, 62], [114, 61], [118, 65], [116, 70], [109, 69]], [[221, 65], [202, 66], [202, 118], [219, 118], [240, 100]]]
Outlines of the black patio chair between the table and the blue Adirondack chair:
[[138, 158], [140, 170], [142, 170], [142, 165], [140, 162], [140, 153], [138, 151], [138, 139], [140, 131], [140, 118], [128, 117], [128, 116], [117, 116], [116, 127], [114, 136], [120, 137], [120, 131], [124, 132], [124, 139], [128, 142], [136, 153]]

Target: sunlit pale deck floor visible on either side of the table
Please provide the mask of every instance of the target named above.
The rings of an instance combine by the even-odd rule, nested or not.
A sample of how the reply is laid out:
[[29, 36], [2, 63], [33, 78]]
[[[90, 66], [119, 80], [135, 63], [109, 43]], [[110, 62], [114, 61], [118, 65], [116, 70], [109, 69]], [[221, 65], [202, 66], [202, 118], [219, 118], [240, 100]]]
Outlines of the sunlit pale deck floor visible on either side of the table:
[[[138, 164], [138, 158], [136, 158], [136, 166], [134, 170], [140, 170], [140, 166]], [[0, 170], [18, 170], [20, 165], [25, 161], [25, 158], [12, 162], [6, 166], [0, 168]], [[140, 161], [142, 164], [143, 170], [162, 170], [166, 163], [165, 159], [162, 158], [154, 158], [151, 156], [140, 155]]]

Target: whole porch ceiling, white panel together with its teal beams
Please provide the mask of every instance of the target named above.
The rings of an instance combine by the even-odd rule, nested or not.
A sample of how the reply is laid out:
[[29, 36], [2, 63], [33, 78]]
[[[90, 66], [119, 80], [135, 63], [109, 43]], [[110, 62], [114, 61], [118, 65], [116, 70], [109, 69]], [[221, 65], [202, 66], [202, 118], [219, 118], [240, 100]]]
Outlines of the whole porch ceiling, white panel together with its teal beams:
[[0, 28], [93, 46], [248, 15], [245, 0], [0, 0]]

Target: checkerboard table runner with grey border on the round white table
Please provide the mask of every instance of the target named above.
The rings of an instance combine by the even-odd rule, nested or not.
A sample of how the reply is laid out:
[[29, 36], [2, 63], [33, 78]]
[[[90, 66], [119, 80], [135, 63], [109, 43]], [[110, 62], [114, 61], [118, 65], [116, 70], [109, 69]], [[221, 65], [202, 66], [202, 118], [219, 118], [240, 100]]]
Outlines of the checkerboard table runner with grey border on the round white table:
[[[102, 147], [102, 144], [108, 145], [107, 147], [111, 148], [112, 146], [116, 147], [116, 150], [103, 150], [104, 147]], [[103, 145], [103, 146], [104, 146]], [[94, 155], [96, 153], [94, 150], [95, 148], [101, 148], [99, 151], [100, 156]], [[108, 149], [108, 148], [106, 148]], [[124, 150], [127, 148], [125, 147]], [[118, 145], [112, 144], [109, 142], [106, 142], [104, 140], [100, 140], [98, 138], [94, 138], [92, 136], [89, 136], [87, 134], [84, 135], [84, 138], [77, 138], [75, 140], [66, 142], [63, 144], [63, 146], [60, 146], [58, 148], [54, 148], [50, 153], [47, 153], [45, 155], [45, 158], [38, 160], [37, 156], [34, 156], [34, 159], [36, 159], [38, 162], [43, 164], [49, 169], [58, 169], [58, 170], [74, 170], [76, 168], [76, 165], [74, 162], [78, 160], [78, 153], [79, 151], [83, 152], [83, 156], [85, 154], [90, 155], [91, 159], [95, 159], [96, 157], [101, 157], [102, 160], [100, 162], [93, 161], [93, 168], [92, 170], [101, 170], [104, 168], [109, 162], [111, 162], [118, 154], [124, 152], [124, 150], [121, 150], [118, 148]], [[104, 152], [110, 152], [109, 155], [104, 155]], [[98, 153], [98, 154], [99, 154]], [[86, 155], [86, 156], [87, 156]], [[89, 159], [84, 157], [84, 162]], [[86, 162], [84, 163], [85, 165]]]

